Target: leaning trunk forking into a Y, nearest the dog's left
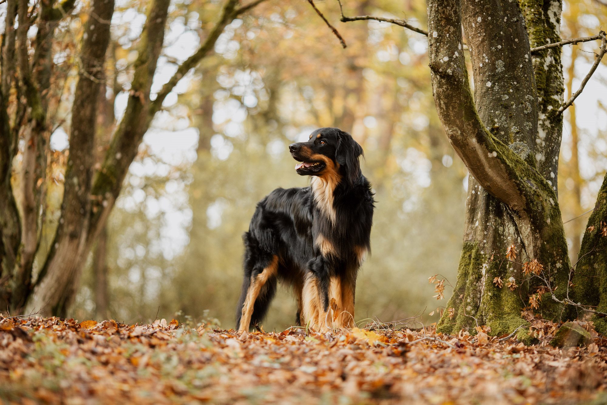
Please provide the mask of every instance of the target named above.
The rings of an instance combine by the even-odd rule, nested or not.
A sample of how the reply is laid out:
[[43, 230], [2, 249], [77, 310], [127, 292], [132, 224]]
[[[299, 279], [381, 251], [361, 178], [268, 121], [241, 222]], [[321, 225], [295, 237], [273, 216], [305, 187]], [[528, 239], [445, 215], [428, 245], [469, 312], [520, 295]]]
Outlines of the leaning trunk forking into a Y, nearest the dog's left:
[[[164, 29], [171, 1], [154, 0], [149, 5], [148, 18], [138, 44], [138, 57], [134, 63], [135, 73], [123, 119], [110, 142], [101, 169], [92, 178], [92, 183], [90, 185], [87, 183], [90, 179], [90, 171], [88, 173], [75, 173], [76, 184], [73, 185], [73, 189], [69, 193], [66, 188], [64, 200], [68, 198], [72, 202], [64, 202], [62, 215], [70, 216], [67, 210], [72, 204], [76, 204], [79, 213], [74, 215], [73, 221], [66, 220], [61, 224], [46, 265], [42, 268], [39, 281], [27, 302], [26, 308], [28, 310], [42, 310], [44, 314], [52, 313], [59, 316], [66, 314], [75, 294], [86, 255], [90, 252], [100, 230], [106, 224], [129, 166], [137, 155], [138, 147], [144, 134], [148, 131], [155, 112], [160, 110], [164, 97], [168, 95], [189, 69], [195, 67], [202, 58], [212, 51], [220, 33], [232, 19], [237, 18], [241, 13], [250, 10], [262, 1], [256, 0], [237, 9], [238, 0], [228, 0], [223, 6], [219, 21], [209, 32], [206, 41], [177, 68], [177, 72], [158, 92], [154, 102], [150, 99], [152, 80], [163, 46]], [[98, 13], [97, 15], [100, 16]], [[109, 25], [111, 15], [107, 17], [100, 16], [97, 22], [104, 22], [105, 25]], [[107, 28], [109, 29], [109, 27]], [[107, 48], [107, 45], [105, 48]], [[96, 66], [103, 66], [103, 64], [98, 63]], [[95, 71], [100, 73], [101, 67], [95, 69]], [[82, 78], [83, 75], [80, 79], [82, 80]], [[98, 91], [98, 83], [95, 82], [95, 91], [90, 92], [89, 100], [98, 100]], [[76, 109], [82, 104], [75, 100], [74, 108]], [[89, 128], [89, 130], [83, 132], [83, 134], [86, 133], [86, 136], [83, 135], [83, 137], [86, 137], [86, 142], [81, 145], [82, 153], [80, 156], [83, 158], [86, 156], [86, 159], [91, 163], [94, 159], [90, 148], [92, 148], [92, 139], [95, 134], [95, 120], [94, 117], [89, 117], [87, 112], [84, 112], [84, 114], [86, 114], [87, 122], [92, 122], [90, 128], [93, 128], [93, 130]], [[84, 127], [74, 125], [72, 125], [72, 128], [86, 130]], [[70, 157], [72, 156], [71, 149], [72, 146], [70, 145]], [[79, 165], [75, 162], [73, 167], [83, 168], [86, 165]], [[67, 184], [66, 175], [66, 187]], [[70, 187], [72, 186], [70, 185]], [[81, 194], [83, 187], [87, 189], [90, 187], [90, 193], [86, 193], [87, 198], [84, 198], [84, 194]]]

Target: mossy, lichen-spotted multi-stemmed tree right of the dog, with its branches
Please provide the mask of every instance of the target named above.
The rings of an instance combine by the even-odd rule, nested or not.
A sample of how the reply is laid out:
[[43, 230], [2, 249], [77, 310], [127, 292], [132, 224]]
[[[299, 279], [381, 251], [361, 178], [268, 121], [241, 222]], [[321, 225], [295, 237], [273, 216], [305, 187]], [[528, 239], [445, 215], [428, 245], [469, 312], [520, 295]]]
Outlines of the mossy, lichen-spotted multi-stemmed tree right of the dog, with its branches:
[[[428, 0], [427, 31], [342, 11], [344, 22], [392, 22], [428, 37], [436, 111], [469, 170], [464, 243], [438, 324], [443, 333], [487, 325], [491, 334], [517, 331], [529, 342], [524, 310], [555, 321], [593, 313], [597, 330], [607, 332], [607, 176], [573, 265], [557, 196], [563, 111], [599, 66], [607, 39], [599, 32], [562, 40], [561, 9], [560, 0]], [[565, 101], [561, 47], [594, 40], [594, 64]]]

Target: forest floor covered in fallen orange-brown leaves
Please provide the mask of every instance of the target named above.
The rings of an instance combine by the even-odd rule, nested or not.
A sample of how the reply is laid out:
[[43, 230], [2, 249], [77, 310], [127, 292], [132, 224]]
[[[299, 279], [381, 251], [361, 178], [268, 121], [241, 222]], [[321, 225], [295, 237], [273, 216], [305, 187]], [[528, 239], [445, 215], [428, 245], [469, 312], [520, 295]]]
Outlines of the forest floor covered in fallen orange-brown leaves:
[[[606, 341], [554, 348], [433, 328], [240, 333], [0, 316], [4, 403], [605, 403]], [[541, 333], [540, 333], [541, 335]], [[502, 338], [503, 339], [503, 338]]]

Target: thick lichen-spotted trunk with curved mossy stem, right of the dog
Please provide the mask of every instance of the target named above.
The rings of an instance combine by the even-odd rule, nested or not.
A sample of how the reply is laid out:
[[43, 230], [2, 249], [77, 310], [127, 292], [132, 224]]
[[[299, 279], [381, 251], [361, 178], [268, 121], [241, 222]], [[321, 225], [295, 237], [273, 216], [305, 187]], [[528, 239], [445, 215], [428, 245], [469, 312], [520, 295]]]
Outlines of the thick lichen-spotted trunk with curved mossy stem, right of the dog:
[[[537, 87], [523, 15], [543, 16], [542, 8], [531, 11], [525, 2], [500, 0], [428, 3], [436, 109], [470, 172], [458, 278], [438, 330], [457, 333], [461, 328], [488, 325], [492, 334], [510, 333], [528, 324], [521, 318], [521, 308], [540, 284], [523, 277], [524, 261], [536, 259], [544, 266], [541, 275], [552, 288], [560, 287], [557, 295], [565, 292], [568, 279], [569, 258], [555, 193], [561, 120], [548, 120], [542, 112], [552, 110], [544, 105], [543, 97], [558, 87], [558, 74], [562, 85], [562, 73], [551, 68], [557, 85], [546, 84], [552, 78], [544, 78], [541, 88]], [[548, 27], [552, 17], [527, 20], [529, 32], [540, 24], [542, 32], [554, 31], [554, 26]], [[470, 49], [475, 101], [464, 62], [462, 24]], [[554, 52], [559, 56], [552, 55], [551, 61], [558, 60], [560, 66], [560, 50]], [[518, 254], [516, 260], [506, 258], [510, 245]], [[507, 288], [511, 282], [515, 284]], [[555, 318], [562, 305], [544, 299], [538, 310], [546, 318]], [[518, 338], [529, 341], [524, 329]]]

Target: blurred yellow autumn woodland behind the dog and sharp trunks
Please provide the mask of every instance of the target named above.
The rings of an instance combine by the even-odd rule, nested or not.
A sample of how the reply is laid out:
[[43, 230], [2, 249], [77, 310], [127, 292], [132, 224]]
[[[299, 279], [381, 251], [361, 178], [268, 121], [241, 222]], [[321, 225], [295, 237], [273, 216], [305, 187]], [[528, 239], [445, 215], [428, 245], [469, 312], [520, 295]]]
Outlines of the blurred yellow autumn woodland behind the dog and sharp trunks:
[[[53, 80], [62, 90], [49, 97], [58, 118], [49, 130], [47, 170], [54, 176], [47, 176], [44, 221], [49, 226], [42, 226], [39, 238], [46, 249], [63, 195], [81, 19], [90, 10], [89, 2], [76, 3], [55, 31], [53, 55], [59, 62]], [[171, 2], [152, 98], [174, 74], [175, 64], [206, 40], [222, 5]], [[5, 16], [6, 5], [0, 7]], [[129, 100], [147, 7], [147, 2], [119, 1], [112, 17], [98, 104], [98, 164]], [[307, 2], [263, 2], [231, 21], [214, 52], [166, 95], [107, 226], [93, 241], [69, 316], [135, 322], [181, 311], [234, 326], [241, 235], [260, 198], [276, 187], [306, 184], [294, 173], [287, 145], [319, 126], [339, 126], [362, 145], [363, 171], [378, 201], [372, 254], [359, 277], [357, 320], [388, 322], [444, 305], [432, 297], [427, 280], [438, 273], [455, 283], [467, 172], [436, 117], [427, 39], [375, 21], [340, 24], [337, 2], [317, 7], [344, 37], [346, 49]], [[424, 1], [346, 1], [344, 7], [348, 15], [406, 18], [426, 27]], [[607, 7], [595, 0], [565, 2], [561, 36], [594, 35], [605, 27], [606, 14]], [[568, 89], [577, 89], [593, 50], [594, 43], [563, 48]], [[565, 112], [559, 179], [565, 220], [592, 208], [606, 167], [604, 67], [605, 61], [592, 78], [594, 89], [578, 99], [577, 117], [571, 108]], [[20, 148], [17, 158], [22, 143]], [[19, 181], [14, 171], [12, 181]], [[572, 255], [588, 215], [566, 224]], [[264, 327], [290, 325], [294, 314], [293, 299], [279, 289]], [[424, 316], [424, 322], [436, 320]]]

